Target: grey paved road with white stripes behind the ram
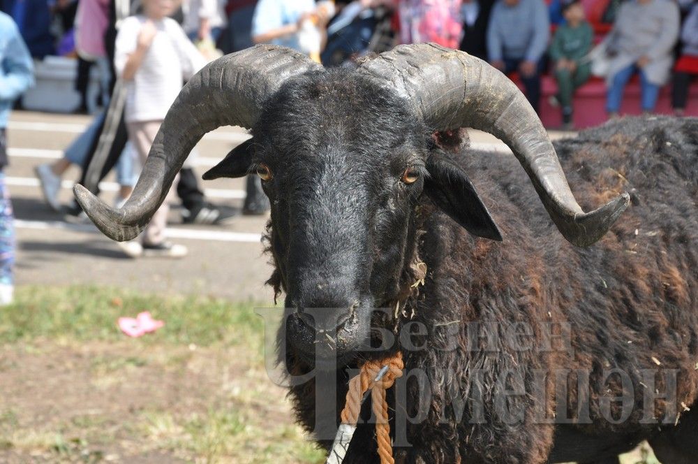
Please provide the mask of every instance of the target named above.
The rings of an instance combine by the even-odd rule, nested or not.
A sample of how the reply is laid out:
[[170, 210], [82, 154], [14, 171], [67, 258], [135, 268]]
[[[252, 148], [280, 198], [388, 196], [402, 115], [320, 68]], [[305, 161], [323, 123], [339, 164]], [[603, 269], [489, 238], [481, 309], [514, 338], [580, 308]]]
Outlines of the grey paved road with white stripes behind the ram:
[[[242, 180], [205, 183], [211, 201], [237, 212], [230, 224], [184, 225], [179, 210], [172, 209], [172, 239], [190, 250], [181, 260], [128, 259], [94, 226], [73, 226], [52, 212], [43, 202], [33, 168], [61, 157], [62, 150], [90, 120], [89, 116], [30, 112], [15, 112], [10, 118], [10, 167], [6, 175], [17, 217], [17, 284], [94, 283], [149, 292], [195, 292], [261, 301], [272, 298], [272, 291], [262, 284], [271, 273], [269, 257], [262, 256], [260, 245], [267, 217], [239, 215]], [[245, 138], [244, 131], [234, 127], [207, 134], [198, 145], [198, 174]], [[478, 145], [503, 149], [491, 136], [474, 133], [471, 138]], [[64, 203], [72, 198], [70, 187], [78, 177], [73, 168], [64, 176]], [[113, 180], [107, 177], [102, 185], [103, 197], [109, 202], [116, 188]]]

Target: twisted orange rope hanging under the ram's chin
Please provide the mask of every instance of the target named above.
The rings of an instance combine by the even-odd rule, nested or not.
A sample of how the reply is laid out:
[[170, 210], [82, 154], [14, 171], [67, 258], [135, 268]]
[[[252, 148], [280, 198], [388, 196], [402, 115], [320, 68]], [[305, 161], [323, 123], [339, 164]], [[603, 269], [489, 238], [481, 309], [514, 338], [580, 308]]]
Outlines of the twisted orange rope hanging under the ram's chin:
[[[378, 372], [387, 365], [388, 370], [378, 382]], [[395, 379], [402, 377], [404, 368], [402, 353], [398, 352], [392, 358], [382, 361], [368, 361], [361, 366], [361, 372], [349, 381], [346, 405], [342, 409], [342, 423], [356, 426], [361, 412], [361, 403], [364, 393], [371, 389], [371, 407], [376, 415], [376, 442], [378, 442], [378, 455], [381, 464], [394, 464], [392, 456], [392, 444], [390, 442], [390, 424], [388, 423], [388, 403], [385, 400], [385, 392], [393, 386]]]

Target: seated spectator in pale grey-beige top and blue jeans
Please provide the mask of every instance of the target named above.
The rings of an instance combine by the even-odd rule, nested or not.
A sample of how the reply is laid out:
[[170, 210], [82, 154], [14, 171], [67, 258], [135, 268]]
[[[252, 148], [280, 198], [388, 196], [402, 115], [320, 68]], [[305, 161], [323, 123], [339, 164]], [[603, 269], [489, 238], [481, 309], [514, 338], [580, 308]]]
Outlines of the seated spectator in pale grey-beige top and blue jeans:
[[660, 87], [669, 80], [678, 22], [674, 1], [629, 0], [621, 5], [604, 40], [612, 57], [606, 79], [609, 117], [618, 115], [625, 85], [636, 73], [640, 75], [642, 112], [654, 111]]

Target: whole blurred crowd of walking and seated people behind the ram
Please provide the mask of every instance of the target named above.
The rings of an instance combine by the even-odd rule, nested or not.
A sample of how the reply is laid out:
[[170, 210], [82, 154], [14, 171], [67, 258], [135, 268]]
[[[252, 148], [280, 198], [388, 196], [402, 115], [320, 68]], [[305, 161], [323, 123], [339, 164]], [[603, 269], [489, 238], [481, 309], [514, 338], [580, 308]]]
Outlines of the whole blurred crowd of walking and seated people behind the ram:
[[[554, 75], [558, 92], [551, 101], [565, 128], [572, 124], [574, 92], [593, 75], [606, 82], [611, 117], [634, 75], [644, 112], [655, 109], [660, 87], [671, 81], [673, 108], [681, 115], [698, 75], [698, 6], [692, 0], [0, 0], [0, 10], [0, 167], [6, 164], [7, 115], [32, 84], [32, 59], [77, 59], [78, 113], [87, 112], [90, 68], [101, 76], [101, 111], [63, 159], [36, 167], [45, 200], [57, 211], [64, 209], [57, 200], [61, 176], [71, 165], [82, 167], [79, 182], [94, 193], [115, 169], [121, 186], [116, 205], [124, 204], [186, 79], [207, 61], [254, 43], [285, 45], [325, 66], [398, 43], [459, 48], [520, 82], [536, 110], [541, 76]], [[12, 259], [11, 205], [1, 179], [0, 300], [3, 283], [11, 287]], [[246, 190], [244, 212], [264, 214], [269, 205], [257, 177], [248, 178]], [[225, 219], [205, 198], [191, 164], [168, 198], [175, 196], [184, 222]], [[166, 238], [167, 205], [141, 238], [121, 245], [128, 256], [186, 255], [186, 247]], [[77, 203], [68, 205], [66, 218], [85, 219]]]

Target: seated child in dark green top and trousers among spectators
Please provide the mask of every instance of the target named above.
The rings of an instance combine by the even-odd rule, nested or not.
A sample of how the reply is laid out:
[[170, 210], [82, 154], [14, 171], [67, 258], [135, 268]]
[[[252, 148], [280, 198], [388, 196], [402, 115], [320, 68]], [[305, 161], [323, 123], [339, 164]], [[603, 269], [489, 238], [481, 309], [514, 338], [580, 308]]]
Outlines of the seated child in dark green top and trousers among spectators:
[[579, 0], [562, 3], [565, 24], [555, 31], [550, 45], [550, 59], [558, 82], [557, 101], [562, 107], [563, 129], [572, 129], [572, 96], [591, 75], [591, 62], [583, 58], [591, 50], [594, 31], [586, 22]]

